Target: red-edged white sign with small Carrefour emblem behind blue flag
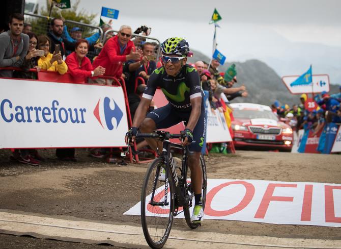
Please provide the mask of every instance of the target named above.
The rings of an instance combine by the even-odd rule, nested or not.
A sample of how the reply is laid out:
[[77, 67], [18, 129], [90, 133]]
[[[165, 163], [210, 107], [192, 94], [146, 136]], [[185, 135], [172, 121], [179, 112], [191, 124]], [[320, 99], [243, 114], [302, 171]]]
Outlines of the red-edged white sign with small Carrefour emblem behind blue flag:
[[288, 90], [292, 94], [301, 93], [321, 93], [323, 91], [329, 92], [329, 76], [328, 74], [313, 74], [312, 83], [305, 85], [296, 85], [293, 82], [299, 76], [284, 76], [282, 82], [287, 86]]

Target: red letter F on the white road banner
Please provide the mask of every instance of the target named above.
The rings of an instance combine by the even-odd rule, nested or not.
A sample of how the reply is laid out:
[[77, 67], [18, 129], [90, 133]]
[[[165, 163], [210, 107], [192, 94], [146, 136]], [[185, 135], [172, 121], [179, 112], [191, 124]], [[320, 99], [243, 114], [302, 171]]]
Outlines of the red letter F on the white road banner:
[[297, 184], [269, 183], [267, 189], [265, 190], [262, 202], [254, 215], [254, 218], [264, 219], [266, 211], [268, 210], [271, 201], [292, 202], [294, 200], [294, 197], [273, 196], [272, 194], [276, 187], [296, 188]]

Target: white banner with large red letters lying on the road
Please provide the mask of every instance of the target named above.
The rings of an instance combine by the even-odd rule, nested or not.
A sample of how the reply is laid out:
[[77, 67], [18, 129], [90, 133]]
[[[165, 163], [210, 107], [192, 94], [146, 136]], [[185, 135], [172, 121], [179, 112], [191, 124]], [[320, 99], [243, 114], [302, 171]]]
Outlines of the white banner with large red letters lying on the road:
[[[148, 202], [146, 210], [169, 212]], [[124, 214], [140, 215], [140, 202]], [[208, 179], [204, 219], [341, 227], [341, 184]]]

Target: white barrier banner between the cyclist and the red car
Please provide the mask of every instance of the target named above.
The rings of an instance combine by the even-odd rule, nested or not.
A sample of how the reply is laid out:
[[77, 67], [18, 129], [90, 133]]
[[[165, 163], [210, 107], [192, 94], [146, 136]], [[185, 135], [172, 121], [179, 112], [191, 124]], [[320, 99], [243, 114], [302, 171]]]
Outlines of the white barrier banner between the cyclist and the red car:
[[207, 143], [231, 142], [231, 134], [226, 123], [225, 115], [217, 109], [207, 108]]

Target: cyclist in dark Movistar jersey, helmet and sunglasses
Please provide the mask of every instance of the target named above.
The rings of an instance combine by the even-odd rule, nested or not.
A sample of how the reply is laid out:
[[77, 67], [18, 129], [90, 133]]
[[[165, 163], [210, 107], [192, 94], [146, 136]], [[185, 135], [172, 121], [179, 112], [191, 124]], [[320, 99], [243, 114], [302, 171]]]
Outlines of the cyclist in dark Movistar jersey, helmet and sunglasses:
[[[201, 223], [204, 210], [200, 152], [206, 133], [204, 129], [206, 120], [200, 77], [194, 67], [186, 64], [189, 45], [185, 39], [178, 37], [166, 39], [161, 45], [161, 52], [163, 66], [155, 69], [151, 74], [125, 141], [127, 143], [129, 137], [134, 142], [138, 129], [141, 133], [151, 133], [158, 129], [174, 126], [181, 121], [185, 122], [186, 137], [182, 145], [189, 145], [189, 150], [193, 152], [188, 156], [195, 198], [191, 221]], [[168, 104], [155, 109], [146, 116], [157, 87], [161, 88]], [[156, 140], [146, 140], [153, 150], [156, 150], [157, 147], [162, 149]], [[172, 156], [169, 158], [169, 163], [174, 164]]]

